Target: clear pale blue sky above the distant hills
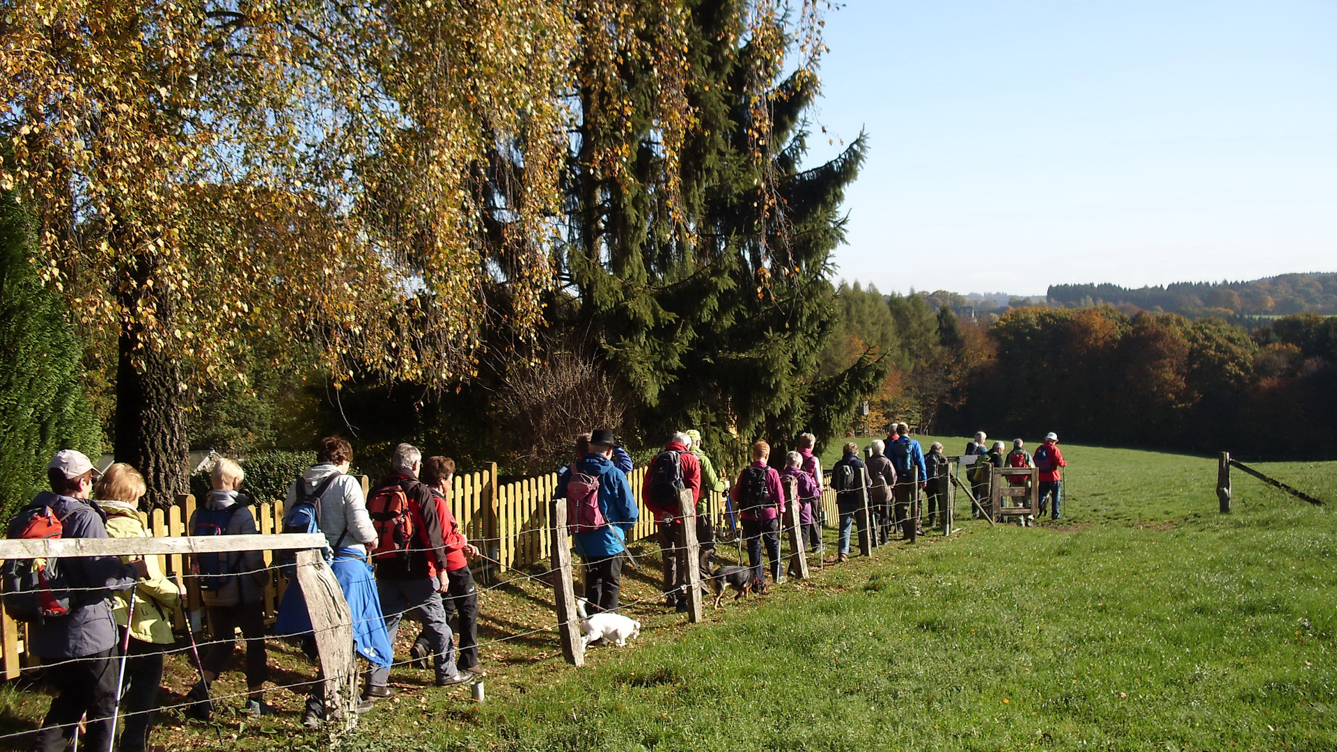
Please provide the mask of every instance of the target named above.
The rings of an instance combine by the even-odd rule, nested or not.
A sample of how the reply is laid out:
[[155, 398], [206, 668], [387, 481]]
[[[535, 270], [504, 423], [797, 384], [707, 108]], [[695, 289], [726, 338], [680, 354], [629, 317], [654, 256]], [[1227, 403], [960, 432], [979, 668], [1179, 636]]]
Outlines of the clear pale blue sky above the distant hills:
[[870, 138], [842, 278], [1337, 270], [1334, 0], [849, 0], [826, 43], [814, 130]]

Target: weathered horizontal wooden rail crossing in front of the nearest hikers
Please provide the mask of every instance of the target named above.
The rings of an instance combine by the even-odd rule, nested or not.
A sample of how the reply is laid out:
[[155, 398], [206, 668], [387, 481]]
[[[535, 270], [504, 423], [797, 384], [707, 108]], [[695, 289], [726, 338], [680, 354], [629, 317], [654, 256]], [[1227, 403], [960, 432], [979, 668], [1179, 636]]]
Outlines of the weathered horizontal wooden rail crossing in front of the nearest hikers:
[[329, 543], [318, 533], [179, 538], [13, 538], [0, 541], [0, 559], [227, 554], [233, 551], [291, 551], [326, 546]]

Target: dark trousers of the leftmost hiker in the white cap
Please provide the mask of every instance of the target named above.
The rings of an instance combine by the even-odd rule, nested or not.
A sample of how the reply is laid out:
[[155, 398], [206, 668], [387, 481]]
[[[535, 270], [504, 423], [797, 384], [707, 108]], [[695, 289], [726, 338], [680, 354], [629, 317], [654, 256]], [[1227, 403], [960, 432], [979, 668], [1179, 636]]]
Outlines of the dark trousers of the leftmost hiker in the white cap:
[[[75, 724], [88, 713], [88, 733], [79, 737], [80, 749], [107, 749], [111, 743], [111, 715], [116, 711], [116, 673], [120, 666], [108, 648], [83, 660], [47, 672], [56, 696], [32, 743], [35, 752], [64, 752]], [[57, 662], [62, 658], [51, 658]]]

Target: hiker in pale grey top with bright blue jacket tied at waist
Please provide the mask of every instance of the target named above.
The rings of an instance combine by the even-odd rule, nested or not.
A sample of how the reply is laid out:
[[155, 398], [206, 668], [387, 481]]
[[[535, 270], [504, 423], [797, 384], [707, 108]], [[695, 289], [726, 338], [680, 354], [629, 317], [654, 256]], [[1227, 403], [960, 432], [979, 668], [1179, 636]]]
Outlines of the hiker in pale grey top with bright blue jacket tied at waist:
[[[376, 543], [376, 527], [366, 512], [362, 484], [348, 474], [353, 463], [353, 446], [346, 439], [326, 436], [316, 451], [316, 464], [287, 490], [283, 504], [283, 533], [321, 533], [329, 550], [330, 570], [348, 602], [353, 624], [353, 649], [376, 668], [389, 668], [394, 649], [385, 633], [381, 598], [366, 562], [368, 549]], [[285, 565], [293, 566], [293, 565]], [[287, 589], [278, 606], [274, 632], [302, 637], [302, 650], [316, 658], [316, 637], [306, 610], [301, 582], [287, 574]], [[320, 665], [320, 664], [317, 664]], [[324, 670], [317, 669], [302, 712], [302, 725], [320, 728], [325, 720]], [[358, 712], [372, 708], [372, 698], [362, 697]]]

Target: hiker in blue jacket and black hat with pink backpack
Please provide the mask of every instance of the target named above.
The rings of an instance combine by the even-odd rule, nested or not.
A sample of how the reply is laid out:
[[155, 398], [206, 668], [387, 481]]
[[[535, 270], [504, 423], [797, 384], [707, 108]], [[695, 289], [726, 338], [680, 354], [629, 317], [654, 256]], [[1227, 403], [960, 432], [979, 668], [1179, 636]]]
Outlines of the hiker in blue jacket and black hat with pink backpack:
[[[588, 533], [576, 533], [572, 542], [586, 570], [586, 601], [591, 613], [618, 612], [618, 594], [622, 591], [622, 559], [627, 550], [627, 533], [636, 523], [636, 498], [631, 494], [627, 474], [614, 464], [616, 440], [612, 431], [599, 428], [590, 435], [590, 451], [578, 459], [576, 472], [599, 479], [599, 510], [608, 525]], [[562, 470], [554, 499], [567, 498], [567, 482], [571, 480], [571, 467]]]

